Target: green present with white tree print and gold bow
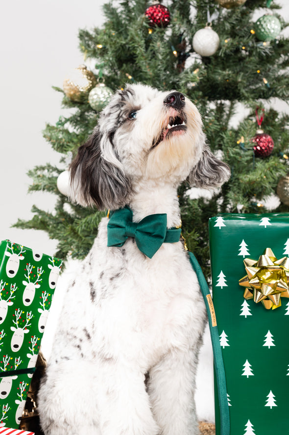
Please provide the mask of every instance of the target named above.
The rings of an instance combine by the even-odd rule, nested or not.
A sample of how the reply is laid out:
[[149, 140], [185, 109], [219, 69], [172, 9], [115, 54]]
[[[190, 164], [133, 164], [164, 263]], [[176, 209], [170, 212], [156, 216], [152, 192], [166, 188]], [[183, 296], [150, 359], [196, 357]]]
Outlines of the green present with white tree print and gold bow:
[[289, 214], [223, 214], [209, 233], [230, 435], [287, 434]]

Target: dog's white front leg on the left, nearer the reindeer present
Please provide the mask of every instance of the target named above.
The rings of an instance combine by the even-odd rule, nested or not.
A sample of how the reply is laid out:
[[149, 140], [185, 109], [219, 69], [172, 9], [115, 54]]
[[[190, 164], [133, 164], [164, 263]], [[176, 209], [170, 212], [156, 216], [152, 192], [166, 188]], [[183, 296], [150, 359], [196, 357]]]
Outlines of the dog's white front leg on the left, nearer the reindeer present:
[[101, 435], [159, 434], [139, 367], [108, 360], [97, 371]]

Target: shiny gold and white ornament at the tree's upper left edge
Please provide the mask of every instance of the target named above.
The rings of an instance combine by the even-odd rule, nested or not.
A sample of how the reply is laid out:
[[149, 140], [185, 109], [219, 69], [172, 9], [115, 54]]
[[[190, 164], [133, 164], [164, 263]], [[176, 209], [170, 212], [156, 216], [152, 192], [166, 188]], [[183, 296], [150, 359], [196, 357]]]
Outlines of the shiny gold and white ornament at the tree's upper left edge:
[[72, 101], [83, 102], [87, 93], [96, 85], [95, 75], [85, 65], [74, 68], [63, 82], [65, 95]]

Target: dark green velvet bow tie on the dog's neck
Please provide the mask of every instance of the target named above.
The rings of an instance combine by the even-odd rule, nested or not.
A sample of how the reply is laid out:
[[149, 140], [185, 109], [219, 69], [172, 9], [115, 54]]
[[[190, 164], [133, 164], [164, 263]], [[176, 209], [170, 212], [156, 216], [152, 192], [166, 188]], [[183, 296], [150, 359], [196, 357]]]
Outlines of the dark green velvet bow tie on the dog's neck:
[[107, 246], [123, 246], [128, 237], [134, 237], [137, 247], [152, 258], [163, 243], [180, 240], [181, 228], [167, 229], [167, 214], [150, 214], [139, 223], [132, 221], [132, 210], [125, 206], [110, 212], [107, 224]]

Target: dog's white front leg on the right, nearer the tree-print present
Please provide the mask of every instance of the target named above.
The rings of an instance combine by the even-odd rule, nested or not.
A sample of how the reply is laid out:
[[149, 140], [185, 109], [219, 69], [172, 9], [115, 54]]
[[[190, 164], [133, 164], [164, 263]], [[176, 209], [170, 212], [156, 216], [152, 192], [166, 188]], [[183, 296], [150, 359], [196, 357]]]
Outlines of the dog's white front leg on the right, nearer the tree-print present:
[[148, 393], [161, 435], [198, 435], [194, 390], [196, 354], [172, 349], [149, 372]]

